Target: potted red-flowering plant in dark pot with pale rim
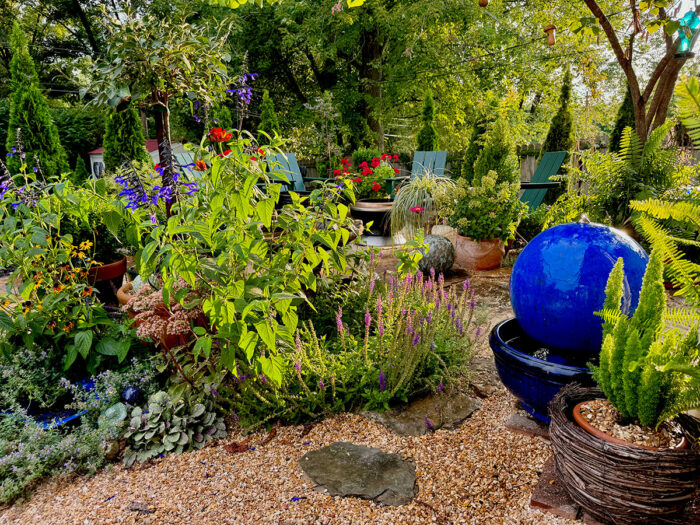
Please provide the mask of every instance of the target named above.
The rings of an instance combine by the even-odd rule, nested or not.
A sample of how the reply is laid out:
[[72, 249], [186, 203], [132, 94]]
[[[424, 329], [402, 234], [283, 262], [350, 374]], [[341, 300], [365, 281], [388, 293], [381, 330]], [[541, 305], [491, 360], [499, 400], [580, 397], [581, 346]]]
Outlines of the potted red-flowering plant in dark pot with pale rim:
[[398, 169], [390, 161], [398, 161], [398, 155], [383, 154], [367, 162], [360, 162], [355, 168], [350, 159], [340, 161], [341, 168], [333, 172], [336, 178], [352, 183], [356, 202], [350, 207], [352, 216], [362, 221], [368, 235], [389, 233], [391, 208], [391, 183]]

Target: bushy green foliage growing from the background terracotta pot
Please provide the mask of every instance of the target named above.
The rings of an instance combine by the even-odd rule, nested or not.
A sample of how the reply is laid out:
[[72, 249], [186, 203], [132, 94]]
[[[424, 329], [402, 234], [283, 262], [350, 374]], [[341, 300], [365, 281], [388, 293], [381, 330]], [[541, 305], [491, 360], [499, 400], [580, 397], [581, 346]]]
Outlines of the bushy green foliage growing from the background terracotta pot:
[[451, 213], [450, 225], [460, 235], [476, 242], [514, 236], [527, 206], [518, 198], [519, 182], [499, 180], [495, 171], [480, 177], [474, 186], [460, 178], [454, 195], [439, 199], [440, 208]]

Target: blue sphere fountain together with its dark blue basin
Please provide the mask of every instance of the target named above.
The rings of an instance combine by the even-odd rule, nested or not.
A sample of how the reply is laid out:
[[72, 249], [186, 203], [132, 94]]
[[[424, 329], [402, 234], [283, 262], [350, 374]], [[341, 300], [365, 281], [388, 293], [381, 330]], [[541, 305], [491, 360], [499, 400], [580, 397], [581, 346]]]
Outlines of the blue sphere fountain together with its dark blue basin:
[[619, 257], [625, 262], [622, 309], [634, 312], [649, 261], [623, 232], [602, 224], [561, 224], [540, 233], [513, 266], [515, 318], [496, 325], [489, 342], [503, 384], [522, 407], [549, 423], [547, 405], [561, 387], [592, 383], [603, 321], [595, 315]]

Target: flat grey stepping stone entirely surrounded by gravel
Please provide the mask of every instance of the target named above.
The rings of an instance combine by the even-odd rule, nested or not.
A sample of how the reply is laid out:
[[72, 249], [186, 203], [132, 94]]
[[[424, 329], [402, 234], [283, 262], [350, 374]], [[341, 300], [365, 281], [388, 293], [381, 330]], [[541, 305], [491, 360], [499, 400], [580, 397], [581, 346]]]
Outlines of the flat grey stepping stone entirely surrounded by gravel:
[[304, 473], [331, 496], [354, 496], [384, 505], [405, 505], [418, 493], [416, 467], [398, 454], [338, 441], [307, 452]]

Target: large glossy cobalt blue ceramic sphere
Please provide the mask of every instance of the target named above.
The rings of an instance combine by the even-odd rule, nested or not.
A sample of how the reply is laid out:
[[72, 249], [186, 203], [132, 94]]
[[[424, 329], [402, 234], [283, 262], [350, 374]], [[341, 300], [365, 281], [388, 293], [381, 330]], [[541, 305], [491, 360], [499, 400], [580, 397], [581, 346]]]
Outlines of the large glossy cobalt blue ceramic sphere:
[[527, 335], [544, 346], [580, 356], [597, 355], [599, 311], [618, 257], [625, 266], [622, 311], [637, 308], [649, 257], [625, 233], [602, 224], [561, 224], [540, 233], [513, 266], [510, 300]]

